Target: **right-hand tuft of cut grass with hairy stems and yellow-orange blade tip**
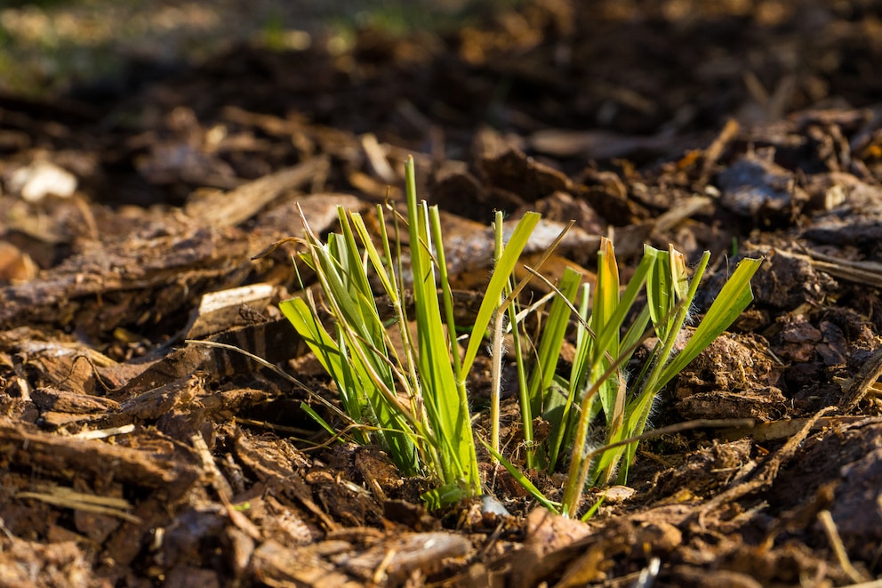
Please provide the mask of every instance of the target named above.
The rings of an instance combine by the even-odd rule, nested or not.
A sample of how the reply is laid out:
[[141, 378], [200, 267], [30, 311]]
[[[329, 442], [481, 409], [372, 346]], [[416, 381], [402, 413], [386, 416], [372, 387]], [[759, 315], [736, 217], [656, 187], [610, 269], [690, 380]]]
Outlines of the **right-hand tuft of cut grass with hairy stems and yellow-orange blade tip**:
[[[602, 239], [590, 313], [587, 286], [581, 292], [577, 310], [580, 324], [570, 377], [560, 378], [562, 382], [557, 388], [536, 385], [531, 388], [532, 407], [538, 403], [543, 417], [551, 424], [544, 462], [549, 471], [558, 467], [561, 451], [570, 449], [562, 503], [562, 510], [567, 514], [572, 516], [578, 510], [586, 482], [605, 485], [613, 481], [616, 474], [618, 483], [627, 481], [629, 466], [637, 451], [636, 439], [644, 435], [650, 409], [659, 392], [753, 300], [750, 278], [761, 260], [747, 259], [739, 263], [688, 342], [674, 355], [675, 343], [684, 330], [709, 261], [710, 253], [705, 252], [690, 280], [683, 254], [673, 247], [662, 251], [645, 246], [643, 259], [622, 290], [613, 244]], [[573, 281], [573, 276], [565, 276], [562, 285], [570, 286]], [[645, 290], [646, 302], [637, 311], [637, 295], [641, 290]], [[567, 293], [560, 293], [560, 300], [566, 300], [567, 294], [572, 292], [570, 286]], [[629, 316], [635, 318], [626, 327], [624, 321]], [[553, 305], [545, 332], [552, 334], [553, 341], [557, 342], [556, 327], [559, 330], [566, 318], [568, 315]], [[653, 350], [640, 366], [637, 377], [629, 379], [624, 366], [640, 342], [651, 334], [656, 338]], [[537, 371], [543, 369], [542, 373], [547, 373], [554, 364], [543, 365], [543, 361], [549, 358], [541, 359]], [[545, 375], [544, 380], [548, 379]], [[566, 391], [565, 398], [557, 392], [561, 388]], [[586, 449], [590, 440], [589, 426], [601, 412], [605, 430], [603, 446], [589, 452]]]

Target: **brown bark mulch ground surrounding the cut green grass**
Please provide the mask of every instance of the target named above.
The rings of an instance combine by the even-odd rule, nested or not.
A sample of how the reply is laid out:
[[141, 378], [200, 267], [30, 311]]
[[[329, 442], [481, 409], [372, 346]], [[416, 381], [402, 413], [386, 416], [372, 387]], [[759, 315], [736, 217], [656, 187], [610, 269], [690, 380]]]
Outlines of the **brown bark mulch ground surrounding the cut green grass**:
[[[879, 585], [882, 6], [586, 4], [0, 95], [0, 584]], [[293, 246], [253, 258], [297, 205], [327, 231], [400, 201], [409, 154], [464, 311], [497, 209], [575, 219], [557, 261], [588, 270], [599, 235], [625, 276], [644, 243], [710, 250], [698, 313], [764, 256], [651, 419], [754, 425], [646, 441], [585, 523], [489, 463], [510, 514], [428, 512], [427, 480], [328, 443], [300, 405], [333, 390], [277, 310]]]

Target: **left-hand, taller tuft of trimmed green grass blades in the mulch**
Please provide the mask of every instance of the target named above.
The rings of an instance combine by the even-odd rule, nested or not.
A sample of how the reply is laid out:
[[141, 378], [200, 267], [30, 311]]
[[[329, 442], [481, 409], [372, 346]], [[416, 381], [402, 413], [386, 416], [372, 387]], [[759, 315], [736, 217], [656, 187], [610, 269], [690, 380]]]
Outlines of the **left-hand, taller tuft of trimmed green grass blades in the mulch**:
[[[338, 211], [341, 233], [322, 243], [307, 229], [302, 239], [306, 253], [301, 258], [316, 272], [325, 309], [333, 318], [333, 333], [319, 320], [319, 304], [309, 294], [282, 302], [281, 309], [336, 383], [344, 410], [359, 425], [353, 433], [355, 440], [379, 442], [405, 475], [421, 473], [439, 479], [442, 486], [426, 496], [437, 504], [481, 492], [466, 375], [539, 215], [525, 215], [509, 239], [461, 357], [451, 336], [457, 326], [439, 213], [436, 206], [416, 201], [413, 159], [406, 170], [413, 317], [405, 311], [401, 239], [396, 236], [393, 255], [381, 206], [377, 207], [382, 230], [379, 248], [361, 215], [342, 209]], [[502, 274], [504, 279], [497, 278]], [[381, 319], [371, 275], [389, 297], [397, 334]], [[415, 338], [407, 327], [412, 318]], [[400, 338], [399, 345], [393, 336]]]

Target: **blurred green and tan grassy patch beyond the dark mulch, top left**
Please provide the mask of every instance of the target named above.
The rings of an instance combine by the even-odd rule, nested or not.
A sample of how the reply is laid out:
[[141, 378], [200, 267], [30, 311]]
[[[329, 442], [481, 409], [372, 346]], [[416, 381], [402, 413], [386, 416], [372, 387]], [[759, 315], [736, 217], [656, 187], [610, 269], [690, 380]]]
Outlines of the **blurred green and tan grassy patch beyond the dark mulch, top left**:
[[[0, 0], [0, 92], [122, 91], [237, 44], [343, 51], [357, 28], [454, 28], [517, 0]], [[132, 72], [131, 69], [138, 69]]]

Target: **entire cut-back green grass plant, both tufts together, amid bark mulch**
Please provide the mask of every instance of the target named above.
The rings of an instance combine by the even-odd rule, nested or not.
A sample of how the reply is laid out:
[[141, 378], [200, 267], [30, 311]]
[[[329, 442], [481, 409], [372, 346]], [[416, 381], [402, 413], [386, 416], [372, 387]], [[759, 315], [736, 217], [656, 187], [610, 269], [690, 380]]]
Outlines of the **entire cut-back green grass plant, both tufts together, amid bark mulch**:
[[[675, 354], [675, 342], [684, 330], [710, 254], [702, 256], [690, 279], [683, 255], [673, 247], [662, 251], [645, 246], [643, 259], [622, 287], [613, 244], [604, 238], [593, 293], [583, 284], [580, 272], [565, 270], [556, 286], [548, 283], [551, 295], [521, 311], [517, 298], [527, 281], [545, 280], [538, 268], [517, 285], [513, 280], [540, 215], [526, 213], [504, 244], [501, 215], [497, 215], [493, 275], [477, 318], [463, 337], [463, 351], [453, 335], [462, 326], [453, 318], [439, 213], [436, 206], [417, 202], [412, 158], [405, 165], [405, 183], [409, 266], [405, 268], [402, 262], [401, 222], [393, 219], [395, 235], [389, 238], [382, 206], [377, 207], [379, 245], [358, 213], [339, 209], [341, 232], [330, 235], [325, 243], [304, 220], [301, 259], [315, 271], [322, 297], [319, 301], [306, 291], [301, 298], [282, 302], [285, 317], [336, 383], [342, 409], [355, 423], [351, 439], [379, 443], [405, 475], [437, 479], [438, 487], [423, 496], [431, 507], [482, 492], [465, 382], [489, 333], [491, 432], [489, 440], [477, 440], [541, 503], [575, 516], [587, 484], [627, 479], [637, 441], [645, 438], [653, 400], [750, 304], [750, 278], [761, 260], [747, 259], [738, 265], [688, 342]], [[409, 285], [405, 276], [412, 277]], [[373, 291], [372, 278], [381, 293]], [[389, 299], [390, 321], [381, 318], [377, 294]], [[410, 314], [405, 304], [408, 294], [413, 296]], [[645, 304], [638, 309], [639, 300]], [[523, 319], [540, 309], [541, 334], [533, 341], [525, 333]], [[320, 320], [325, 312], [333, 321], [331, 329]], [[558, 360], [565, 337], [573, 331], [573, 318], [574, 359], [569, 373], [561, 375]], [[518, 366], [525, 465], [549, 473], [567, 471], [560, 503], [542, 495], [501, 455], [501, 341], [506, 331], [513, 335]], [[656, 341], [652, 352], [637, 369], [637, 376], [627, 377], [624, 367], [650, 335]], [[526, 360], [530, 357], [535, 361]], [[333, 432], [315, 412], [310, 414]], [[541, 442], [533, 439], [536, 417], [550, 425], [548, 437]], [[589, 450], [589, 431], [598, 423], [605, 431], [603, 446]]]

